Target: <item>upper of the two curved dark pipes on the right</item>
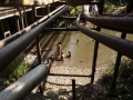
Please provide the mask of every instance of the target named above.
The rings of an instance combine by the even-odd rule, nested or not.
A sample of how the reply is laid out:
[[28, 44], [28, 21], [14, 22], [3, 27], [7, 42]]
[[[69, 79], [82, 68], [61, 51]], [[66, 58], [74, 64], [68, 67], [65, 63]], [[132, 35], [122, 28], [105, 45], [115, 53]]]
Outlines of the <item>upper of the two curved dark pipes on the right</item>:
[[85, 20], [98, 24], [98, 26], [105, 26], [111, 28], [117, 28], [126, 31], [133, 32], [133, 18], [132, 17], [90, 17], [85, 12], [83, 13]]

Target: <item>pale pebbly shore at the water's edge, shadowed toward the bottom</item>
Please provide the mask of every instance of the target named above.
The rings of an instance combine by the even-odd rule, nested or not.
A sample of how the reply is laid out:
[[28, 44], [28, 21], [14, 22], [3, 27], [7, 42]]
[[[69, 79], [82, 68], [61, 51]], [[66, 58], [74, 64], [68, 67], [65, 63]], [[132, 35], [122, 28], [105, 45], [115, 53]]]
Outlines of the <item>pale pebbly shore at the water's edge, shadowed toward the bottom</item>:
[[106, 66], [96, 68], [94, 84], [90, 84], [90, 77], [63, 76], [90, 76], [91, 68], [82, 68], [82, 64], [73, 66], [73, 63], [66, 64], [63, 61], [54, 61], [50, 73], [62, 76], [48, 76], [47, 80], [44, 79], [41, 84], [44, 89], [43, 92], [40, 93], [39, 87], [37, 87], [24, 100], [73, 100], [72, 80], [75, 80], [75, 100], [98, 100], [96, 93], [102, 89], [95, 82], [100, 79]]

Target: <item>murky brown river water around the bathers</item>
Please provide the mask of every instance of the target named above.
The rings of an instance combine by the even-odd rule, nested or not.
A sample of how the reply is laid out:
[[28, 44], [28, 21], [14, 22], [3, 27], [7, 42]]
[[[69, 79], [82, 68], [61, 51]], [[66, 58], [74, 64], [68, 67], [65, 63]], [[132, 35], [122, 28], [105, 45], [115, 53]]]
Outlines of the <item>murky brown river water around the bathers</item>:
[[[104, 33], [113, 34], [115, 37], [120, 37], [121, 32], [111, 31], [111, 30], [101, 30]], [[41, 48], [51, 48], [51, 51], [44, 51], [42, 54], [47, 58], [51, 54], [54, 54], [57, 43], [60, 41], [62, 44], [62, 52], [66, 56], [69, 51], [71, 51], [71, 59], [65, 59], [63, 64], [71, 64], [76, 67], [92, 67], [93, 59], [93, 50], [94, 50], [94, 41], [88, 36], [81, 33], [80, 31], [62, 31], [62, 32], [50, 32], [41, 36]], [[76, 44], [76, 39], [79, 39], [79, 43]], [[129, 40], [133, 40], [132, 34], [127, 34]], [[115, 57], [116, 52], [112, 49], [100, 43], [99, 46], [99, 54], [98, 54], [98, 67], [105, 66], [111, 63]]]

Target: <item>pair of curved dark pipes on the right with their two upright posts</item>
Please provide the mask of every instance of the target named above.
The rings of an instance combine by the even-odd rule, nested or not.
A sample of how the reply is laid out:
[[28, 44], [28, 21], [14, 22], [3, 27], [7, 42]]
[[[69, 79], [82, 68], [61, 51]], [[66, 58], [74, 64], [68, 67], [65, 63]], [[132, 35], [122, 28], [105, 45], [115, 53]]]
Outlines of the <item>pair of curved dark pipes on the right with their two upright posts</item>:
[[[101, 0], [101, 1], [104, 2], [104, 0]], [[126, 10], [127, 13], [130, 11], [132, 11], [132, 10], [130, 10], [130, 9]], [[96, 30], [92, 30], [92, 29], [85, 28], [85, 27], [80, 24], [80, 18], [81, 18], [82, 13], [83, 13], [83, 17], [85, 18], [85, 20], [98, 26]], [[110, 16], [102, 16], [101, 13], [102, 13], [102, 11], [99, 11], [98, 17], [91, 17], [91, 16], [89, 16], [89, 13], [83, 12], [83, 10], [82, 10], [76, 19], [75, 26], [81, 32], [83, 32], [84, 34], [86, 34], [90, 38], [95, 40], [91, 83], [93, 83], [93, 81], [94, 81], [99, 42], [103, 43], [104, 46], [106, 46], [106, 47], [109, 47], [117, 52], [114, 73], [113, 73], [113, 81], [112, 81], [112, 87], [111, 87], [111, 89], [114, 90], [115, 84], [116, 84], [116, 78], [119, 74], [119, 67], [121, 63], [121, 57], [126, 56], [126, 57], [133, 59], [133, 51], [132, 51], [133, 50], [133, 42], [130, 40], [125, 40], [126, 32], [133, 33], [133, 19], [132, 19], [132, 17], [129, 17], [129, 14], [110, 17]], [[121, 38], [100, 32], [101, 27], [108, 28], [111, 30], [121, 31], [122, 32]]]

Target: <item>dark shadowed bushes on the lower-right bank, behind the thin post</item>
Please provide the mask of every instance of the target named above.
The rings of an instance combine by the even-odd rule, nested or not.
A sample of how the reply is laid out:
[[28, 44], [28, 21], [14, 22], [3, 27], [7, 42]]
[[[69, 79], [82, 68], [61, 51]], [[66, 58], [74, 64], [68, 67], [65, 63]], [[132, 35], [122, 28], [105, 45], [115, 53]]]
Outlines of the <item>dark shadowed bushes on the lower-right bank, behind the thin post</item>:
[[112, 93], [109, 88], [112, 83], [113, 69], [114, 63], [105, 70], [99, 81], [105, 89], [100, 96], [101, 100], [133, 100], [133, 60], [125, 57], [122, 59], [116, 88]]

